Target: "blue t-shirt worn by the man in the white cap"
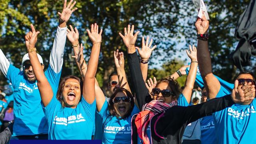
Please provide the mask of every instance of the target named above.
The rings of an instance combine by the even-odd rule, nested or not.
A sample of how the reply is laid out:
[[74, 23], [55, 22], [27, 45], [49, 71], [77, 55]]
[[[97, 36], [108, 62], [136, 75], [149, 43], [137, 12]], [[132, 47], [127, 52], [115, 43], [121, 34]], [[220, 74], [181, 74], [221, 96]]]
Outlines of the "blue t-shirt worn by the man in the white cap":
[[[44, 72], [54, 94], [57, 93], [61, 72], [51, 66]], [[30, 82], [24, 72], [10, 64], [6, 78], [14, 88], [14, 126], [12, 136], [47, 134], [48, 125], [41, 106], [37, 82]]]

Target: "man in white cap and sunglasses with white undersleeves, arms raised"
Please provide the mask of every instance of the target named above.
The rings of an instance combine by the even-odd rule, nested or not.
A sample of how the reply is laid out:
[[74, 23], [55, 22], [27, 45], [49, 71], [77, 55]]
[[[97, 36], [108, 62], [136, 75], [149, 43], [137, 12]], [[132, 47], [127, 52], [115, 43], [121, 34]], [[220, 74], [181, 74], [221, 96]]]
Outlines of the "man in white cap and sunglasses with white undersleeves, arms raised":
[[[57, 92], [60, 80], [63, 53], [66, 43], [66, 22], [68, 22], [76, 2], [72, 0], [68, 3], [65, 0], [62, 13], [59, 14], [59, 25], [54, 39], [53, 48], [50, 54], [50, 64], [45, 71], [46, 78], [50, 82], [53, 92]], [[73, 9], [72, 9], [73, 8]], [[31, 25], [34, 29], [34, 26]], [[29, 32], [25, 38], [30, 39], [32, 32]], [[28, 46], [27, 46], [28, 47]], [[33, 46], [34, 49], [36, 49]], [[42, 69], [44, 63], [42, 57], [38, 54]], [[48, 125], [41, 105], [40, 93], [37, 87], [36, 77], [30, 64], [28, 54], [22, 58], [22, 71], [14, 67], [6, 56], [0, 50], [0, 70], [12, 83], [14, 87], [14, 126], [12, 139], [48, 139]]]

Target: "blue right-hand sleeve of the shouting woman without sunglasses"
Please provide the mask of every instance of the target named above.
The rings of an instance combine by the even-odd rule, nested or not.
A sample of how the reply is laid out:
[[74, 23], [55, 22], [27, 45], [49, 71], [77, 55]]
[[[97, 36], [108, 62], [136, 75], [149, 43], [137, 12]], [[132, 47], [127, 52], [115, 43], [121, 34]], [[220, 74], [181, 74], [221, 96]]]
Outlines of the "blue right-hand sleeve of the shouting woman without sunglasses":
[[96, 100], [94, 100], [92, 104], [89, 104], [84, 99], [84, 96], [83, 95], [81, 96], [82, 96], [81, 104], [82, 104], [82, 107], [84, 108], [84, 112], [89, 116], [91, 121], [95, 121]]

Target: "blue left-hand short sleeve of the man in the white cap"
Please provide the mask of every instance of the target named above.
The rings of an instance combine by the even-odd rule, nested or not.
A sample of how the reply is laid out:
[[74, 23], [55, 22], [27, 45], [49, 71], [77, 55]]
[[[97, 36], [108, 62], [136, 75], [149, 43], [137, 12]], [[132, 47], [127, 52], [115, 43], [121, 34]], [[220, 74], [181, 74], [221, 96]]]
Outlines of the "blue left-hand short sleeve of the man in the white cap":
[[12, 83], [12, 86], [14, 88], [17, 87], [16, 78], [20, 72], [21, 72], [20, 69], [16, 68], [12, 64], [10, 64], [8, 71], [7, 71], [6, 78], [7, 78], [7, 80], [9, 80]]

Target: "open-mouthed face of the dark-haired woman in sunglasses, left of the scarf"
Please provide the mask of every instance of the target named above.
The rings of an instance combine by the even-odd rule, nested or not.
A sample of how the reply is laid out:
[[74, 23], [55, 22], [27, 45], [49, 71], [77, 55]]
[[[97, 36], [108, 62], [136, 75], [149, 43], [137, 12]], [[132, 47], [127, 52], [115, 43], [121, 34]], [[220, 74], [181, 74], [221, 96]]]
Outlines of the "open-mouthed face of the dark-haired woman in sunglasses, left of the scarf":
[[[118, 92], [116, 94], [115, 98], [116, 97], [123, 97], [123, 96], [128, 97], [126, 95], [126, 92], [122, 91], [122, 92]], [[130, 97], [128, 97], [128, 98], [130, 99]], [[116, 113], [121, 117], [125, 116], [127, 114], [130, 107], [131, 107], [131, 102], [124, 102], [123, 100], [120, 100], [120, 102], [114, 103], [114, 109], [115, 109]]]

